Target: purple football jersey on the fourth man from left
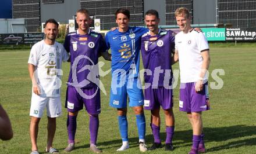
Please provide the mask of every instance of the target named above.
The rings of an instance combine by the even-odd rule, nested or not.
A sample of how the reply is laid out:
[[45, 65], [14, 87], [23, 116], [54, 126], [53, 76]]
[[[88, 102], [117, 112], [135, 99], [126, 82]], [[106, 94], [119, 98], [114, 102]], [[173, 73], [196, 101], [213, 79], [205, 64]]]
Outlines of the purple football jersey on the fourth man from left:
[[171, 57], [175, 48], [175, 35], [173, 31], [159, 29], [157, 35], [151, 36], [147, 32], [141, 37], [143, 65], [152, 72], [152, 75], [144, 73], [144, 80], [153, 87], [172, 85]]

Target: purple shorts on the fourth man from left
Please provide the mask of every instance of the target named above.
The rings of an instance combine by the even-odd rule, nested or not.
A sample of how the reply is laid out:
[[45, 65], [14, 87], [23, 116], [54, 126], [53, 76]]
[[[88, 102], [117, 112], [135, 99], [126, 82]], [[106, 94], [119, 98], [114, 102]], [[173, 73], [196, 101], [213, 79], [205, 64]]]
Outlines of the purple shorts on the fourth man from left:
[[165, 89], [165, 87], [158, 87], [157, 89], [148, 87], [145, 89], [144, 109], [159, 109], [160, 106], [162, 106], [163, 109], [173, 107], [172, 89]]

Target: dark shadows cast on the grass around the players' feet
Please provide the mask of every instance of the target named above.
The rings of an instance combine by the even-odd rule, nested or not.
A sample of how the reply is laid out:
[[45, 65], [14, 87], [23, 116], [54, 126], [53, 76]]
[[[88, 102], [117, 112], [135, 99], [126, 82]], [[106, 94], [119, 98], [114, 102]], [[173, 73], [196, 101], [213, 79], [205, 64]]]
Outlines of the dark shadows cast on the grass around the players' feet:
[[[236, 126], [229, 126], [229, 127], [205, 127], [204, 134], [205, 134], [205, 144], [207, 142], [219, 142], [219, 141], [227, 141], [232, 139], [237, 139], [238, 141], [232, 141], [225, 145], [221, 146], [214, 146], [210, 149], [207, 149], [208, 152], [214, 151], [221, 151], [223, 149], [230, 149], [230, 148], [239, 148], [240, 146], [244, 145], [256, 145], [256, 138], [250, 138], [245, 140], [239, 140], [241, 137], [250, 137], [251, 135], [255, 134], [256, 126], [246, 126], [246, 125], [236, 125]], [[119, 135], [119, 134], [117, 134]], [[165, 133], [160, 134], [162, 141], [165, 141]], [[152, 134], [146, 135], [146, 141], [148, 144], [152, 144], [154, 142], [154, 138]], [[192, 142], [192, 130], [185, 130], [185, 131], [175, 131], [175, 136], [173, 138], [173, 146], [175, 148], [181, 148], [184, 146], [191, 146]], [[101, 142], [99, 141], [98, 146], [104, 146], [104, 149], [109, 148], [120, 148], [122, 145], [121, 140], [109, 140]], [[129, 138], [129, 146], [130, 148], [138, 146], [138, 138], [133, 137]], [[89, 144], [76, 146], [76, 149], [80, 148], [89, 148]]]

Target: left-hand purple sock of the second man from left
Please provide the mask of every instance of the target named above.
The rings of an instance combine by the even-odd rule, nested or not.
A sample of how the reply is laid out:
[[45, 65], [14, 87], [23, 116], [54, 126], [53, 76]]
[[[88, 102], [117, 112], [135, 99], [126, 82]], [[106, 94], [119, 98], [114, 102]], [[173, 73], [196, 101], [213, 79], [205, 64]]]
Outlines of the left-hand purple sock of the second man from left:
[[76, 117], [67, 115], [67, 134], [69, 135], [69, 144], [74, 143], [74, 135], [76, 134]]

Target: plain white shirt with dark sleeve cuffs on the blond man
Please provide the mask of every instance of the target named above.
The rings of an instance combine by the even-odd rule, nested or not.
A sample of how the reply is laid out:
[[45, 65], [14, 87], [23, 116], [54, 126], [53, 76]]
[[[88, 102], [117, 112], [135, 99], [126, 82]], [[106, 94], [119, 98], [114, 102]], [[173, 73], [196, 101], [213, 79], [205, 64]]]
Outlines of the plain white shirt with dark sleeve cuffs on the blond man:
[[[201, 52], [209, 50], [207, 39], [202, 32], [183, 31], [175, 36], [175, 49], [179, 53], [180, 82], [197, 82], [202, 67]], [[204, 80], [207, 79], [207, 74]]]

